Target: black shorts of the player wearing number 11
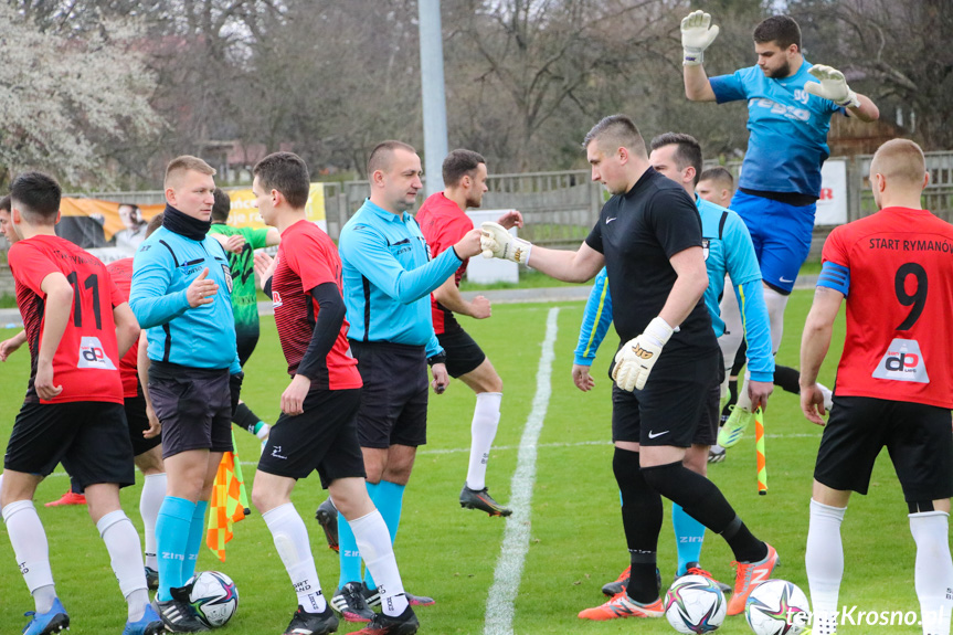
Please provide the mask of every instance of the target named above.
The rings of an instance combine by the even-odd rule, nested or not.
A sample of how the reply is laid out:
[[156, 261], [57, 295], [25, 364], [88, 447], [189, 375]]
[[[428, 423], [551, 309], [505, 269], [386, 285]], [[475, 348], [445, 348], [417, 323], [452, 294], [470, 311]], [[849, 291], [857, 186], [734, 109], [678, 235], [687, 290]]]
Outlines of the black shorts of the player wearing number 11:
[[46, 476], [57, 463], [83, 489], [98, 483], [136, 483], [123, 404], [24, 403], [13, 422], [4, 468]]

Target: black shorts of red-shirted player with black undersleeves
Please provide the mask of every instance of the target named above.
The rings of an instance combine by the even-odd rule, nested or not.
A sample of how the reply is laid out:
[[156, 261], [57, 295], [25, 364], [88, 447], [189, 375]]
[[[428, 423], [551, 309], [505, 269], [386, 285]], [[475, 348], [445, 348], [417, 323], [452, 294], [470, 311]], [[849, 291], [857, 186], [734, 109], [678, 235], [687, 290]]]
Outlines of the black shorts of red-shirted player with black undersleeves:
[[305, 478], [318, 470], [325, 489], [338, 478], [364, 478], [364, 457], [354, 417], [361, 389], [311, 390], [304, 414], [282, 414], [272, 426], [258, 472]]

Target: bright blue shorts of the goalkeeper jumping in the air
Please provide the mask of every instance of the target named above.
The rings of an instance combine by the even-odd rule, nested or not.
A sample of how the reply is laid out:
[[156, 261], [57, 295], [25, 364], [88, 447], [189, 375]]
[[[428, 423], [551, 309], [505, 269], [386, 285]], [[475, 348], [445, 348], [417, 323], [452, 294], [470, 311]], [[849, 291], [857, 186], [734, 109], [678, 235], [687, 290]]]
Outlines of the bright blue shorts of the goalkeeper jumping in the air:
[[731, 209], [748, 225], [762, 279], [790, 294], [811, 252], [817, 205], [796, 207], [738, 190], [731, 199]]

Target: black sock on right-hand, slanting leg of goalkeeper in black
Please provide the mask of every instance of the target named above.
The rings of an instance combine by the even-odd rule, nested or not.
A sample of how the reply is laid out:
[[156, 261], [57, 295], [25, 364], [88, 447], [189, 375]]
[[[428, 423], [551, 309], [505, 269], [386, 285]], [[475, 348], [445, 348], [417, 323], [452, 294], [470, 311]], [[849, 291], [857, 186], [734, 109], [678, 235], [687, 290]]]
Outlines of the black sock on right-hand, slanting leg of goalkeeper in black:
[[713, 483], [691, 472], [681, 462], [646, 467], [642, 473], [659, 494], [679, 504], [708, 529], [720, 533], [734, 552], [735, 560], [754, 562], [764, 558], [764, 543], [748, 530]]

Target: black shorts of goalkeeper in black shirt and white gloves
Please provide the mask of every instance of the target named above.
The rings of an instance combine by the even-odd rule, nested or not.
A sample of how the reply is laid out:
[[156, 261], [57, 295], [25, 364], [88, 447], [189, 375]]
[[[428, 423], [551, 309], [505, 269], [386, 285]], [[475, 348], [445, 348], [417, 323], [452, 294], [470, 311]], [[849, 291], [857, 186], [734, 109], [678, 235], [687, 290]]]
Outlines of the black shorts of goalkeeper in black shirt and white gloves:
[[[659, 358], [643, 390], [612, 387], [612, 441], [688, 447], [696, 441], [702, 409], [711, 405], [718, 353], [690, 361]], [[716, 411], [718, 402], [714, 402]]]

